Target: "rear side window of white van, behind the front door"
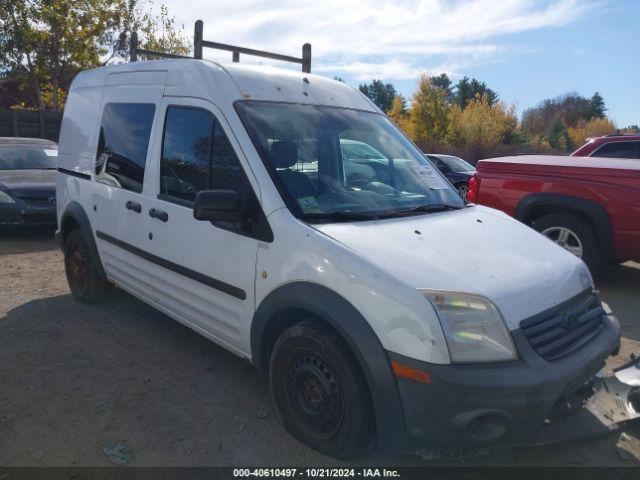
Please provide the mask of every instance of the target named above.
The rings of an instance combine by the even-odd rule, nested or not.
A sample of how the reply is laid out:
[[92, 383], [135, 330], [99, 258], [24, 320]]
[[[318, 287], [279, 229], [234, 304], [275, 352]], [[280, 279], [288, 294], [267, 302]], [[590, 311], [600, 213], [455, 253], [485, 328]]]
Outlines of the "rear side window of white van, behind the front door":
[[96, 154], [96, 181], [142, 192], [155, 109], [152, 103], [104, 106]]

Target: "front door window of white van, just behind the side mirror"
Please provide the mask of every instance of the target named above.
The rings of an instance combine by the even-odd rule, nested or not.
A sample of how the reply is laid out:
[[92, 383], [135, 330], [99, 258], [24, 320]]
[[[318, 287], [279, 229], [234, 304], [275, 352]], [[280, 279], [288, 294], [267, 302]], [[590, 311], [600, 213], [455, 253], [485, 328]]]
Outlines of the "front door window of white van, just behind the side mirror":
[[160, 162], [160, 194], [193, 202], [208, 188], [213, 115], [199, 108], [169, 107]]

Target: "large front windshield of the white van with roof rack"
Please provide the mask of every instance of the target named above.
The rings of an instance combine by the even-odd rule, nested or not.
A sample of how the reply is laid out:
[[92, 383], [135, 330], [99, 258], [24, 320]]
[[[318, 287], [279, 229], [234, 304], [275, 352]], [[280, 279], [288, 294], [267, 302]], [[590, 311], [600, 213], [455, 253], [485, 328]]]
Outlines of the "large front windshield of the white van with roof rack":
[[384, 115], [239, 101], [236, 109], [289, 209], [348, 221], [464, 207], [451, 184]]

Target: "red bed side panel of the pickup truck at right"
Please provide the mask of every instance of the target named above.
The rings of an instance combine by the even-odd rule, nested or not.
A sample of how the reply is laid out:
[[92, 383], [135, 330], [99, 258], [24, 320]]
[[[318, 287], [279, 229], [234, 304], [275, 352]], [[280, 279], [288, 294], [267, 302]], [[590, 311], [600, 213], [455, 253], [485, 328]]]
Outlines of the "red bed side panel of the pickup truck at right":
[[478, 203], [513, 216], [520, 201], [532, 193], [572, 195], [595, 202], [608, 212], [613, 228], [614, 254], [619, 259], [640, 258], [640, 178], [619, 171], [553, 173], [485, 170], [478, 166]]

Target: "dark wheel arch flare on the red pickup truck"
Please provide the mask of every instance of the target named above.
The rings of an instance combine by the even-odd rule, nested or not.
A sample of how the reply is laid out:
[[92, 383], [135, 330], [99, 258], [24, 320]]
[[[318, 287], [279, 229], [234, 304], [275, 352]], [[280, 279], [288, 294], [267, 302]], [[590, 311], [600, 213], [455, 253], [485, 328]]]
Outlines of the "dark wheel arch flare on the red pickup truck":
[[532, 225], [548, 213], [574, 213], [593, 225], [598, 246], [605, 256], [613, 253], [613, 227], [607, 210], [593, 200], [563, 193], [532, 193], [518, 203], [514, 217]]

